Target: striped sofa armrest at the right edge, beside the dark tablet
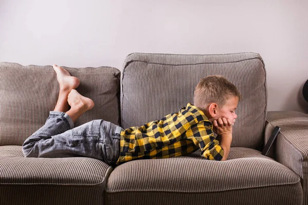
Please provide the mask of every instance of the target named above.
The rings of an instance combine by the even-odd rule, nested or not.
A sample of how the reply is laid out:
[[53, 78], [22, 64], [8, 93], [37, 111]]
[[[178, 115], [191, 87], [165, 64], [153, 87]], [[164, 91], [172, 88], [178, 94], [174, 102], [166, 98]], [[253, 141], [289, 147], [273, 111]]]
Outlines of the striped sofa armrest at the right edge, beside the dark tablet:
[[271, 111], [267, 114], [265, 141], [275, 126], [281, 128], [277, 136], [274, 156], [276, 160], [301, 178], [303, 204], [308, 204], [308, 114], [296, 111]]

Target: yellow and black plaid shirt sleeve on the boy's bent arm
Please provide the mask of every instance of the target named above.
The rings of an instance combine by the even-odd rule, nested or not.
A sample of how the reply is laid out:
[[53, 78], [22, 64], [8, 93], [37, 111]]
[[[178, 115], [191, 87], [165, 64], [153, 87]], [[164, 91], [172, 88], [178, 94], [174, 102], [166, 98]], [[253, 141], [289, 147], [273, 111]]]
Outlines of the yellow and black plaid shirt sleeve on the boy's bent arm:
[[212, 125], [209, 121], [199, 122], [186, 131], [187, 139], [194, 142], [201, 149], [201, 156], [209, 160], [220, 161], [224, 151], [219, 146], [219, 141], [215, 139]]

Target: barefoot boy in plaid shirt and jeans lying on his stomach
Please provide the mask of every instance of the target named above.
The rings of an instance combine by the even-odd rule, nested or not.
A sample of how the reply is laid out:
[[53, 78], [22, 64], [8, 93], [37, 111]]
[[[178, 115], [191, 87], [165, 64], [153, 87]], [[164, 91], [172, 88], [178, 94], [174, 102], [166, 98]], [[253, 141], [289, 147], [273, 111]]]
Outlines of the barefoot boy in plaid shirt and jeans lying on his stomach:
[[227, 159], [241, 95], [226, 78], [207, 76], [195, 89], [195, 105], [187, 104], [179, 113], [141, 127], [124, 130], [111, 122], [93, 120], [73, 128], [73, 122], [94, 103], [74, 90], [80, 84], [78, 78], [61, 67], [53, 68], [60, 85], [59, 99], [45, 125], [24, 142], [26, 157], [86, 156], [120, 165], [134, 159], [169, 158], [201, 149], [206, 159]]

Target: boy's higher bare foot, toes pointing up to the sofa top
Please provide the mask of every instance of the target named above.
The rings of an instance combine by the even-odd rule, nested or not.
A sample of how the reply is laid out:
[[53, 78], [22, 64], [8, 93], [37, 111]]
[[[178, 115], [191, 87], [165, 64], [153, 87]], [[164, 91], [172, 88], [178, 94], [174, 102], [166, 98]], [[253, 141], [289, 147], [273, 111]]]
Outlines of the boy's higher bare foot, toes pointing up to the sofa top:
[[60, 85], [60, 90], [70, 92], [79, 86], [80, 81], [78, 78], [71, 76], [69, 72], [57, 65], [53, 65], [53, 69], [56, 73], [56, 78]]

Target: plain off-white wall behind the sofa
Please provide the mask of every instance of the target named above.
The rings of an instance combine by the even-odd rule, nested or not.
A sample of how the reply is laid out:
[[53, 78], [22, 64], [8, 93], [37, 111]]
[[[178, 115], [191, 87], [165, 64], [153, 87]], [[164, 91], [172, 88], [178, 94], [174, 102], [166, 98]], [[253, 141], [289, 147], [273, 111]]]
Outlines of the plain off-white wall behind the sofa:
[[0, 0], [0, 61], [121, 69], [132, 52], [257, 52], [268, 110], [308, 112], [307, 10], [306, 0]]

